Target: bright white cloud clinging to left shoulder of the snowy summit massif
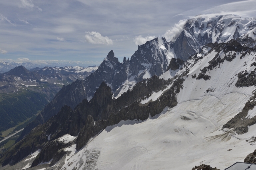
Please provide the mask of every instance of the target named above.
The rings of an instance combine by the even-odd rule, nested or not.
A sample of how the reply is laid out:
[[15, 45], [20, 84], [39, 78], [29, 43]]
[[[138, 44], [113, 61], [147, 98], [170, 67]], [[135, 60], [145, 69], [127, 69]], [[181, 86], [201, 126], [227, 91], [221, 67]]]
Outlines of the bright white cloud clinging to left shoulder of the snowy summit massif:
[[185, 23], [186, 23], [186, 20], [180, 20], [178, 23], [174, 25], [174, 27], [171, 27], [170, 29], [168, 29], [163, 36], [166, 38], [167, 41], [175, 41], [176, 38], [182, 32]]

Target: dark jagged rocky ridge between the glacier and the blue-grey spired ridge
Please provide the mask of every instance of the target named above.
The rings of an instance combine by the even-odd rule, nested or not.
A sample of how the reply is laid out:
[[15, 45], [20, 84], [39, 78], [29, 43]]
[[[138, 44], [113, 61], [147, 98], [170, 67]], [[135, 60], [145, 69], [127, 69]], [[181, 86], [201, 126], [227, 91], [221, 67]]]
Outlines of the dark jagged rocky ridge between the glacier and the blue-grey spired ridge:
[[[49, 119], [49, 121], [44, 123], [44, 125], [36, 127], [36, 129], [34, 129], [27, 137], [18, 142], [12, 149], [13, 151], [6, 152], [6, 154], [1, 157], [1, 160], [5, 160], [5, 162], [2, 162], [2, 164], [10, 162], [10, 160], [12, 162], [17, 162], [18, 160], [20, 160], [20, 157], [26, 156], [26, 152], [22, 151], [22, 146], [25, 145], [27, 147], [24, 149], [31, 150], [32, 152], [43, 147], [42, 151], [33, 163], [34, 166], [37, 165], [38, 162], [48, 162], [52, 159], [52, 156], [56, 154], [59, 149], [62, 149], [62, 147], [60, 147], [56, 150], [56, 152], [52, 150], [52, 145], [53, 143], [55, 143], [54, 140], [58, 139], [66, 133], [76, 136], [81, 131], [79, 133], [80, 135], [78, 135], [78, 139], [76, 140], [77, 147], [80, 148], [84, 146], [85, 143], [87, 143], [92, 135], [95, 135], [95, 133], [99, 133], [99, 131], [102, 128], [104, 129], [107, 125], [118, 123], [122, 119], [147, 119], [149, 113], [154, 116], [155, 114], [161, 112], [162, 108], [166, 107], [166, 105], [170, 107], [175, 106], [176, 102], [175, 98], [173, 98], [174, 95], [172, 95], [172, 93], [178, 92], [178, 90], [181, 88], [180, 83], [182, 83], [182, 80], [176, 80], [173, 84], [173, 88], [170, 89], [170, 92], [172, 93], [167, 93], [164, 97], [170, 98], [171, 100], [166, 100], [165, 102], [163, 102], [163, 98], [160, 100], [162, 101], [162, 103], [160, 103], [160, 101], [157, 101], [150, 107], [148, 105], [140, 106], [138, 101], [134, 102], [134, 99], [142, 97], [146, 94], [150, 94], [152, 91], [160, 90], [161, 88], [164, 88], [168, 83], [170, 83], [170, 81], [163, 81], [158, 77], [154, 76], [149, 80], [144, 80], [136, 84], [133, 90], [124, 93], [122, 96], [120, 96], [120, 98], [114, 99], [112, 98], [113, 94], [111, 88], [103, 82], [100, 88], [98, 88], [98, 90], [96, 91], [94, 97], [90, 100], [90, 102], [84, 99], [82, 103], [74, 109], [74, 111], [72, 111], [70, 107], [64, 106], [56, 116]], [[131, 106], [124, 107], [129, 104]], [[134, 112], [134, 107], [140, 109], [144, 113], [137, 115]], [[149, 110], [151, 111], [148, 112]], [[128, 115], [124, 115], [124, 112], [127, 111], [128, 113], [130, 113]], [[94, 122], [94, 120], [97, 121], [95, 122], [95, 124], [92, 123]], [[44, 133], [42, 133], [42, 129], [44, 129]], [[89, 129], [94, 130], [90, 131]], [[89, 135], [83, 135], [84, 133], [88, 132]], [[52, 135], [50, 135], [50, 137], [48, 138], [49, 134]], [[40, 142], [38, 141], [38, 138], [40, 138]], [[16, 154], [9, 157], [11, 155], [10, 153], [15, 152], [15, 150], [17, 150], [18, 148], [20, 149], [16, 151]], [[48, 156], [46, 157], [46, 155]]]

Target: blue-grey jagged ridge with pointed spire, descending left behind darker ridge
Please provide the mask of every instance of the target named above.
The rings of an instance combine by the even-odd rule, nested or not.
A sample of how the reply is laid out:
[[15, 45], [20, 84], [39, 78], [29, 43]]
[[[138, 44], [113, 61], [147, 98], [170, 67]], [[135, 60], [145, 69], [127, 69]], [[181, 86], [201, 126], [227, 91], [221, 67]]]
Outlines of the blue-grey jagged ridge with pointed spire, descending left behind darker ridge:
[[119, 97], [136, 82], [164, 73], [171, 59], [168, 49], [170, 44], [164, 38], [156, 38], [140, 45], [131, 60], [124, 58], [122, 63], [119, 63], [111, 50], [98, 69], [85, 80], [63, 86], [38, 117], [25, 127], [17, 141], [34, 127], [56, 115], [62, 106], [67, 105], [73, 109], [83, 99], [90, 100], [102, 82], [111, 87], [115, 97]]

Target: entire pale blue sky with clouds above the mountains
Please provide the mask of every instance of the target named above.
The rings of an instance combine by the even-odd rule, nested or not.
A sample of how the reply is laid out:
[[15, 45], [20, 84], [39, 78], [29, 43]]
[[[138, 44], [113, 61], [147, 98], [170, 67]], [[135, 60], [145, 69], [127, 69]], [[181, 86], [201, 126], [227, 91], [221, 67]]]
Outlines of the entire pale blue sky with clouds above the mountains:
[[0, 0], [0, 60], [99, 65], [180, 31], [198, 14], [256, 17], [256, 0]]

